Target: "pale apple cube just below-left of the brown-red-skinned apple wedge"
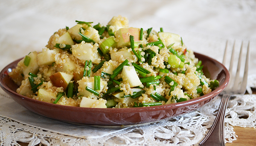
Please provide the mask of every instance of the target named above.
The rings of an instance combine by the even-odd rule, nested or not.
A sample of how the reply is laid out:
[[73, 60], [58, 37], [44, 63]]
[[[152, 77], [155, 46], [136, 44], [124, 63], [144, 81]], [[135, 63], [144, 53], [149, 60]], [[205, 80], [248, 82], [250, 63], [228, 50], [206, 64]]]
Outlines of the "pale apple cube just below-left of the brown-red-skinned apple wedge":
[[56, 99], [56, 95], [52, 92], [47, 91], [45, 88], [40, 88], [38, 90], [37, 97], [39, 97], [41, 101], [50, 103], [53, 103]]

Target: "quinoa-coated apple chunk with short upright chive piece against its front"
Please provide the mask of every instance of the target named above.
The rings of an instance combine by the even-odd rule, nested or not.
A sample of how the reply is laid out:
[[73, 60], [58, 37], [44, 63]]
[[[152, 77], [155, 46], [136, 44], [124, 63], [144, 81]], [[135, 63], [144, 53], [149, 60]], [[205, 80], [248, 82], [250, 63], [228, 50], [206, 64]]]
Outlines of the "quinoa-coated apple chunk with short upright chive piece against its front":
[[[97, 98], [98, 97], [85, 89], [86, 87], [94, 89], [94, 77], [82, 78], [81, 80], [78, 81], [78, 84], [79, 84], [78, 89], [80, 90], [79, 94], [81, 96], [85, 96], [85, 97], [89, 97], [89, 98]], [[105, 88], [107, 85], [108, 85], [108, 83], [101, 79], [101, 88], [100, 88], [100, 90], [96, 90], [96, 91], [98, 93], [101, 93], [103, 91], [103, 88]]]

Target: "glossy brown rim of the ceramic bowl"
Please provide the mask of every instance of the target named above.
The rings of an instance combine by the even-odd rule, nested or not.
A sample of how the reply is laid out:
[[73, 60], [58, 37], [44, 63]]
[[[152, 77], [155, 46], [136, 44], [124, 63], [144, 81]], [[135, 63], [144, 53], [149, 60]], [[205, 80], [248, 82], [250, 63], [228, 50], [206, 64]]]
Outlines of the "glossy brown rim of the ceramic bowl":
[[[213, 59], [209, 56], [200, 54], [200, 53], [196, 53], [194, 52], [195, 55], [201, 55], [204, 58], [208, 58], [210, 60], [212, 60], [213, 62], [218, 62], [216, 59]], [[230, 79], [230, 75], [229, 75], [229, 71], [227, 70], [227, 68], [220, 62], [218, 62], [219, 65], [222, 66], [222, 68], [224, 69], [225, 73], [226, 73], [226, 79], [224, 80], [224, 82], [215, 90], [211, 91], [210, 93], [197, 97], [195, 99], [190, 99], [187, 101], [183, 101], [183, 102], [178, 102], [178, 103], [171, 103], [171, 104], [167, 104], [167, 105], [158, 105], [158, 106], [148, 106], [148, 107], [136, 107], [136, 108], [104, 108], [104, 110], [102, 110], [102, 108], [85, 108], [85, 107], [78, 107], [78, 106], [66, 106], [66, 105], [57, 105], [57, 104], [53, 104], [53, 103], [48, 103], [48, 102], [43, 102], [40, 100], [36, 100], [36, 99], [32, 99], [26, 96], [23, 96], [21, 94], [18, 94], [15, 91], [12, 91], [10, 88], [7, 87], [7, 85], [5, 85], [6, 83], [4, 83], [2, 81], [4, 76], [7, 76], [6, 71], [8, 71], [9, 68], [11, 68], [12, 64], [15, 64], [16, 62], [18, 63], [18, 61], [20, 61], [22, 58], [17, 59], [13, 62], [11, 62], [10, 64], [6, 65], [6, 67], [4, 67], [2, 69], [2, 71], [0, 72], [0, 86], [2, 87], [2, 89], [6, 92], [8, 92], [9, 94], [12, 94], [18, 98], [21, 98], [23, 100], [26, 100], [28, 102], [33, 102], [35, 104], [40, 104], [40, 105], [44, 105], [44, 106], [50, 106], [52, 108], [61, 108], [61, 109], [69, 109], [72, 111], [90, 111], [90, 112], [97, 112], [97, 113], [112, 113], [113, 111], [117, 112], [117, 113], [127, 113], [127, 112], [140, 112], [140, 111], [155, 111], [155, 110], [160, 110], [160, 109], [175, 109], [175, 108], [180, 108], [182, 106], [188, 106], [188, 105], [193, 105], [197, 102], [202, 102], [204, 100], [209, 99], [210, 97], [214, 96], [214, 95], [218, 95], [220, 94], [227, 86], [227, 84], [229, 83], [229, 79]]]

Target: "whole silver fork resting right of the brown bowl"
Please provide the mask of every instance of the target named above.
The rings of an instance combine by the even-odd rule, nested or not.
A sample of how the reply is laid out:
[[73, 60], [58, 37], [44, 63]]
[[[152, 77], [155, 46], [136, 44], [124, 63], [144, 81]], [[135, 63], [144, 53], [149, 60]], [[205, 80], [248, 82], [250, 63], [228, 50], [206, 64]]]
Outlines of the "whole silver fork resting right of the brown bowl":
[[[229, 99], [234, 94], [244, 94], [246, 90], [247, 84], [247, 76], [248, 76], [248, 64], [250, 58], [250, 42], [248, 42], [247, 46], [247, 53], [245, 59], [245, 68], [244, 68], [244, 75], [240, 77], [240, 70], [241, 70], [241, 62], [242, 62], [242, 49], [243, 49], [243, 42], [241, 45], [240, 53], [239, 53], [239, 60], [236, 70], [236, 75], [232, 75], [233, 70], [233, 62], [235, 56], [235, 42], [233, 44], [232, 56], [230, 60], [229, 66], [229, 73], [230, 73], [230, 82], [229, 85], [226, 87], [224, 91], [222, 91], [222, 99], [219, 106], [218, 114], [213, 122], [212, 127], [210, 128], [209, 132], [207, 133], [206, 137], [199, 143], [200, 146], [225, 146], [225, 138], [224, 138], [224, 119], [225, 119], [225, 111], [227, 108], [227, 104]], [[226, 58], [227, 58], [227, 47], [228, 41], [226, 43], [226, 49], [223, 58], [223, 64], [226, 65]], [[234, 78], [235, 77], [235, 78]], [[240, 84], [241, 83], [241, 84]]]

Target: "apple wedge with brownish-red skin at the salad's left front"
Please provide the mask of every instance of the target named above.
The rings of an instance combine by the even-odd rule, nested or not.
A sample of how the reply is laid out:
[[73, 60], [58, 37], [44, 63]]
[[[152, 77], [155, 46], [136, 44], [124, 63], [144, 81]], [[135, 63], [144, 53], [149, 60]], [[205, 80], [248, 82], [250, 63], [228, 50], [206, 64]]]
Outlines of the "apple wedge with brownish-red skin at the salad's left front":
[[65, 91], [73, 77], [73, 75], [67, 73], [57, 72], [50, 76], [50, 80], [55, 87], [63, 87]]

